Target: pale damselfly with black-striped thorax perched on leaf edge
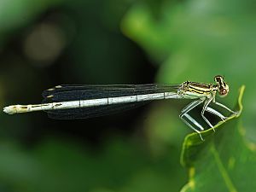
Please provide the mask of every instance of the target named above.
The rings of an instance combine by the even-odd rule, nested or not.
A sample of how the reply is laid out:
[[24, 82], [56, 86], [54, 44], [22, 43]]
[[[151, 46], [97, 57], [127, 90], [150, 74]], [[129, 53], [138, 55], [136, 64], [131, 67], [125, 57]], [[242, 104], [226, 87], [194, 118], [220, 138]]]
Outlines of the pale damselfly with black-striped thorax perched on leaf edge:
[[192, 99], [194, 101], [183, 108], [179, 117], [201, 137], [201, 131], [205, 128], [189, 115], [193, 108], [203, 103], [201, 117], [212, 128], [212, 123], [205, 116], [206, 111], [223, 121], [227, 118], [210, 108], [211, 102], [230, 113], [236, 113], [215, 101], [217, 93], [219, 96], [228, 95], [229, 85], [220, 75], [215, 76], [214, 81], [215, 84], [185, 81], [182, 84], [58, 85], [44, 90], [42, 104], [12, 105], [3, 108], [3, 112], [14, 114], [46, 111], [53, 119], [86, 119], [135, 108], [153, 100]]

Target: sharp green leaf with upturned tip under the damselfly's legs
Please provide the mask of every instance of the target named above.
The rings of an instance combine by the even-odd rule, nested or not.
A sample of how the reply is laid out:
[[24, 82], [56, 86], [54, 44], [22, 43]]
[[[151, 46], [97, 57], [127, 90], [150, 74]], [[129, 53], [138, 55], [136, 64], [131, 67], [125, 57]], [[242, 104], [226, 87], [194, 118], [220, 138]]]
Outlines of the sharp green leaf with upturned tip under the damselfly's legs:
[[245, 86], [241, 86], [238, 98], [238, 114], [226, 122], [203, 131], [202, 142], [195, 134], [189, 134], [183, 143], [181, 163], [189, 168], [189, 183], [182, 191], [252, 191], [256, 183], [256, 146], [244, 139], [245, 131], [238, 118], [241, 114], [241, 98]]

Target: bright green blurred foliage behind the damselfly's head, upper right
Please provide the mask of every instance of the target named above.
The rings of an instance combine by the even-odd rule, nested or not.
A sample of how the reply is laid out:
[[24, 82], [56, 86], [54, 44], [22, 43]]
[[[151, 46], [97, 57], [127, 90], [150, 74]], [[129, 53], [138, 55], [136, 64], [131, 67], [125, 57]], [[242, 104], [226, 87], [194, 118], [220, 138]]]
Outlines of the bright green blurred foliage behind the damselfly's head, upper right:
[[137, 3], [125, 15], [122, 30], [152, 59], [162, 61], [159, 81], [209, 82], [222, 74], [230, 84], [229, 101], [246, 84], [244, 119], [247, 137], [255, 140], [255, 6], [250, 0], [165, 1], [155, 18], [147, 3]]

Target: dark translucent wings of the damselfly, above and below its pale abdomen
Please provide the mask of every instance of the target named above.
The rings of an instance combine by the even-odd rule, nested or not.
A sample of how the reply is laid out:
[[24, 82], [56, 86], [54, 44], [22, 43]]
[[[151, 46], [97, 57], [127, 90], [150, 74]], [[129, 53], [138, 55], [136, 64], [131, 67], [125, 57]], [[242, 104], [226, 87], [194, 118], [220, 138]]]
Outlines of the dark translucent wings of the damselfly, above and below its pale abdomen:
[[[135, 96], [143, 94], [177, 92], [179, 85], [170, 84], [112, 84], [112, 85], [59, 85], [44, 90], [43, 103], [90, 100], [117, 96]], [[96, 106], [88, 108], [73, 108], [47, 111], [53, 119], [87, 119], [104, 116], [137, 108], [148, 102], [131, 102]]]

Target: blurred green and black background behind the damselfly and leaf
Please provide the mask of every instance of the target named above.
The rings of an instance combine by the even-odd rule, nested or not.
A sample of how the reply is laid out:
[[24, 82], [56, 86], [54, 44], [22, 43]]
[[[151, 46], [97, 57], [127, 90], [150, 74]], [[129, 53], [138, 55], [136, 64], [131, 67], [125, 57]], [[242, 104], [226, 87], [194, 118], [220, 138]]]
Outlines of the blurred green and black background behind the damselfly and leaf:
[[[256, 141], [256, 3], [250, 0], [0, 0], [0, 105], [38, 103], [57, 84], [230, 84], [218, 98]], [[179, 191], [186, 101], [108, 117], [0, 114], [0, 191]]]

